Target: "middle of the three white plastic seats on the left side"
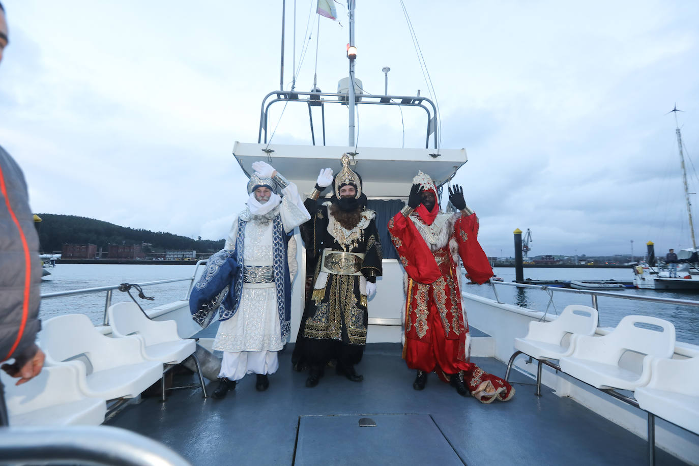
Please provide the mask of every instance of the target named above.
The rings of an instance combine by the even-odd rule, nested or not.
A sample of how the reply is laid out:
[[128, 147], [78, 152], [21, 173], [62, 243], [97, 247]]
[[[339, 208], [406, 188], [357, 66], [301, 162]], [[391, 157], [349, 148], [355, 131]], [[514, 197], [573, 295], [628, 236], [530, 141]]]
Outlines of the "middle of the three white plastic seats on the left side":
[[73, 367], [79, 374], [80, 391], [87, 396], [134, 398], [162, 376], [163, 365], [143, 357], [138, 337], [106, 337], [87, 316], [57, 316], [42, 327], [39, 343], [46, 363]]

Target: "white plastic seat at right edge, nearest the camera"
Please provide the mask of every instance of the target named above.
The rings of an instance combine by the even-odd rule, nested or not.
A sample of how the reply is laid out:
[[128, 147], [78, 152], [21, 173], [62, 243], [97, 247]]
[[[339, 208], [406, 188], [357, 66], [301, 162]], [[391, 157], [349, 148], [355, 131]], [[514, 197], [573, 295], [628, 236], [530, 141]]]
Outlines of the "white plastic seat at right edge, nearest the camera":
[[699, 434], [699, 356], [654, 358], [651, 380], [633, 396], [641, 409]]

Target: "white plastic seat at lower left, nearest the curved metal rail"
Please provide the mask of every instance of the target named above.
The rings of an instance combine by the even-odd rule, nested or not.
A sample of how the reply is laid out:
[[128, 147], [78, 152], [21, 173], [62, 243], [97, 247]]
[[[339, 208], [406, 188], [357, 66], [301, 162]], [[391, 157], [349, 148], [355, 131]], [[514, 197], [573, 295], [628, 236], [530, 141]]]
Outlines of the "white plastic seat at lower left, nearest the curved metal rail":
[[0, 371], [10, 426], [100, 425], [107, 412], [101, 398], [88, 398], [78, 386], [78, 372], [70, 366], [44, 367], [34, 379], [15, 386]]

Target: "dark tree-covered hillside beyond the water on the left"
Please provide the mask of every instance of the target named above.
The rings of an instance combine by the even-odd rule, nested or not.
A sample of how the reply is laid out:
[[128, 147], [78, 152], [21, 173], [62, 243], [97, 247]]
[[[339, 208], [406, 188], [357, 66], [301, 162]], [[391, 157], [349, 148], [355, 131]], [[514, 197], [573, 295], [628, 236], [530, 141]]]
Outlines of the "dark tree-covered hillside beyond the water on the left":
[[217, 252], [223, 249], [225, 240], [192, 240], [186, 236], [173, 235], [163, 231], [149, 231], [142, 228], [127, 228], [106, 221], [76, 217], [75, 215], [38, 214], [41, 252], [61, 252], [64, 244], [87, 243], [97, 248], [108, 249], [108, 245], [141, 245], [144, 252], [164, 252], [166, 249], [194, 249], [197, 253]]

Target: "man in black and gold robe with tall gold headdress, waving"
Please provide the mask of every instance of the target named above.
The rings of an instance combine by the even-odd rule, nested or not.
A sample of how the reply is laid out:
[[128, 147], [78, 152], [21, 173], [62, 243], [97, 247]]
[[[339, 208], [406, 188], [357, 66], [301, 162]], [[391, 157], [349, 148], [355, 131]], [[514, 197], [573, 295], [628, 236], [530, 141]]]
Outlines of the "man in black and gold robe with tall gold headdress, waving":
[[[343, 155], [342, 161], [343, 169], [334, 178], [330, 168], [321, 170], [304, 203], [311, 219], [300, 227], [315, 272], [293, 359], [296, 367], [310, 367], [308, 387], [318, 384], [333, 359], [338, 374], [363, 380], [354, 365], [366, 346], [368, 297], [382, 275], [376, 212], [366, 208], [361, 177], [349, 168], [349, 156]], [[333, 196], [318, 205], [320, 193], [330, 184]]]

